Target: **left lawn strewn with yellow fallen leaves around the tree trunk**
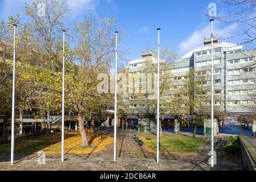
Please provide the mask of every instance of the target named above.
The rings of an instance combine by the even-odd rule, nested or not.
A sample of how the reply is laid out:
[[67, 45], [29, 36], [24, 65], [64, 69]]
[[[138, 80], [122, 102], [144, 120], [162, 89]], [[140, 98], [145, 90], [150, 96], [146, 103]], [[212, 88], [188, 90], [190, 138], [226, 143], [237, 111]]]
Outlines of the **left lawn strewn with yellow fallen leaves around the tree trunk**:
[[[101, 140], [101, 135], [96, 133], [87, 133], [90, 147], [82, 147], [82, 138], [78, 132], [65, 133], [64, 137], [64, 154], [91, 154], [113, 143], [113, 138], [103, 135]], [[15, 138], [14, 144], [15, 154], [34, 154], [38, 151], [61, 154], [61, 133]], [[10, 142], [0, 143], [0, 155], [10, 155], [10, 148]]]

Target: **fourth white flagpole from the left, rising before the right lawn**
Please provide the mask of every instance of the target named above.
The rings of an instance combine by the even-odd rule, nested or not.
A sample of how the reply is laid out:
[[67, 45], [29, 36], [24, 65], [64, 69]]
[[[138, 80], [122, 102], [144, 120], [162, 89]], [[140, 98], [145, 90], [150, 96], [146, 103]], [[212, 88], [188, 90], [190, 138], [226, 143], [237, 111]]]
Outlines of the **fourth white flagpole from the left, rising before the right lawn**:
[[159, 144], [160, 144], [160, 28], [157, 28], [158, 31], [158, 42], [157, 42], [157, 151], [156, 151], [156, 162], [159, 163]]

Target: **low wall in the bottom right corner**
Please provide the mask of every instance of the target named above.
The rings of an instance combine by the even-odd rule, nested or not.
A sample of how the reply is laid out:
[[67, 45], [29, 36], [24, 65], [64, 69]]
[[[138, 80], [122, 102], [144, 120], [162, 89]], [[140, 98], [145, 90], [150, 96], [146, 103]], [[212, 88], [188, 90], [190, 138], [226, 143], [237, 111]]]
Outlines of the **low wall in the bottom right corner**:
[[240, 138], [241, 151], [242, 151], [242, 166], [248, 171], [256, 171], [256, 149], [250, 146], [242, 136]]

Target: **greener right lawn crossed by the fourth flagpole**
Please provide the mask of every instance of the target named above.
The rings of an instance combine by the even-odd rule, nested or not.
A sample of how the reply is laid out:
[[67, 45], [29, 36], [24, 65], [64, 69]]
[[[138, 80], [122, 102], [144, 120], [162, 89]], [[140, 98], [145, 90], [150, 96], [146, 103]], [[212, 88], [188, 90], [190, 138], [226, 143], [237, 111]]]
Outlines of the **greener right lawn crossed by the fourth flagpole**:
[[[144, 147], [149, 152], [156, 152], [156, 135], [145, 133], [140, 134], [139, 138], [143, 140]], [[164, 135], [160, 138], [160, 152], [162, 153], [192, 153], [195, 152], [206, 138], [193, 138], [175, 135]]]

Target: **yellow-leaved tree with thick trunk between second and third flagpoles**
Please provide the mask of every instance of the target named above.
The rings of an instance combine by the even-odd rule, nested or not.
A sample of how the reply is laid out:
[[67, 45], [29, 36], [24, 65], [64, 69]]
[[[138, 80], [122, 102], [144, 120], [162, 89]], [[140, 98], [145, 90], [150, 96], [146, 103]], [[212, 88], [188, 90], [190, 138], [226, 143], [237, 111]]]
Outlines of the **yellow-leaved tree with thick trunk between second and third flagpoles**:
[[[83, 146], [88, 146], [85, 124], [103, 112], [111, 97], [97, 92], [97, 75], [109, 73], [115, 56], [116, 19], [92, 18], [76, 25], [74, 59], [67, 75], [67, 103], [72, 107], [79, 123]], [[93, 124], [93, 123], [92, 123]]]

